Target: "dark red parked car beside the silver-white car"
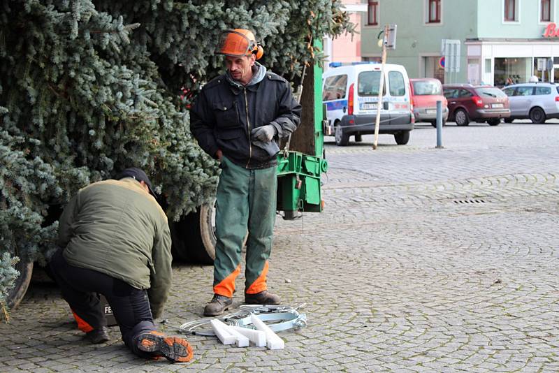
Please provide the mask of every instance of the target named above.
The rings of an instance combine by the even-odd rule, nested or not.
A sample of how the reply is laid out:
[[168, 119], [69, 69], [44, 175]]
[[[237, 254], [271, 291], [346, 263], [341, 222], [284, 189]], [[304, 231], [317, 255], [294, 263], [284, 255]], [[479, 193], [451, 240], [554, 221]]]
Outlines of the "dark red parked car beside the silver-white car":
[[509, 118], [509, 98], [491, 85], [443, 85], [449, 101], [449, 122], [467, 126], [471, 120], [498, 126], [501, 118]]

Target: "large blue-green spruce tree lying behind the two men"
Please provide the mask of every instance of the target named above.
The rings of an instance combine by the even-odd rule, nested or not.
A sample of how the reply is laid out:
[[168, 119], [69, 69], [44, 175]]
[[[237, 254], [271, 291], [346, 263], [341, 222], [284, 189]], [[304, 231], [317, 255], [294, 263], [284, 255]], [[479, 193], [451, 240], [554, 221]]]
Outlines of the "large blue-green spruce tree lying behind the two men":
[[[6, 0], [0, 5], [0, 304], [15, 261], [45, 263], [80, 188], [143, 168], [170, 219], [215, 194], [215, 161], [187, 105], [223, 70], [221, 31], [255, 31], [291, 80], [324, 57], [312, 36], [353, 32], [338, 0]], [[187, 94], [182, 94], [187, 92]], [[182, 94], [182, 98], [181, 98]]]

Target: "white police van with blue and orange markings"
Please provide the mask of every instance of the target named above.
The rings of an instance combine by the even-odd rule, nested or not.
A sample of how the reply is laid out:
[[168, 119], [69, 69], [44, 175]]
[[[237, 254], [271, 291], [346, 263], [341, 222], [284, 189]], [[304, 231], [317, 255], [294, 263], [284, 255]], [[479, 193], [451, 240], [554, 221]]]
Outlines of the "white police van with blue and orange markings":
[[[330, 68], [322, 75], [326, 133], [335, 136], [336, 145], [347, 145], [349, 136], [361, 141], [361, 135], [375, 133], [380, 74], [381, 64], [356, 64]], [[392, 134], [398, 145], [405, 145], [414, 115], [404, 66], [384, 66], [383, 92], [379, 133]]]

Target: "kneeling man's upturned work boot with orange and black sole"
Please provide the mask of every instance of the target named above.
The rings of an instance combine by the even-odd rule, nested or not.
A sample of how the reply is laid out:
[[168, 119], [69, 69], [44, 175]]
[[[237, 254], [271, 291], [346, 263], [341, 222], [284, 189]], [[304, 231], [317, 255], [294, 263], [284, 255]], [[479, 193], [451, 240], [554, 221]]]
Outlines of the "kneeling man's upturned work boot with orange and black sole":
[[164, 356], [173, 363], [184, 363], [194, 355], [192, 346], [186, 339], [167, 337], [155, 330], [140, 335], [136, 341], [138, 350], [149, 353], [152, 358]]

